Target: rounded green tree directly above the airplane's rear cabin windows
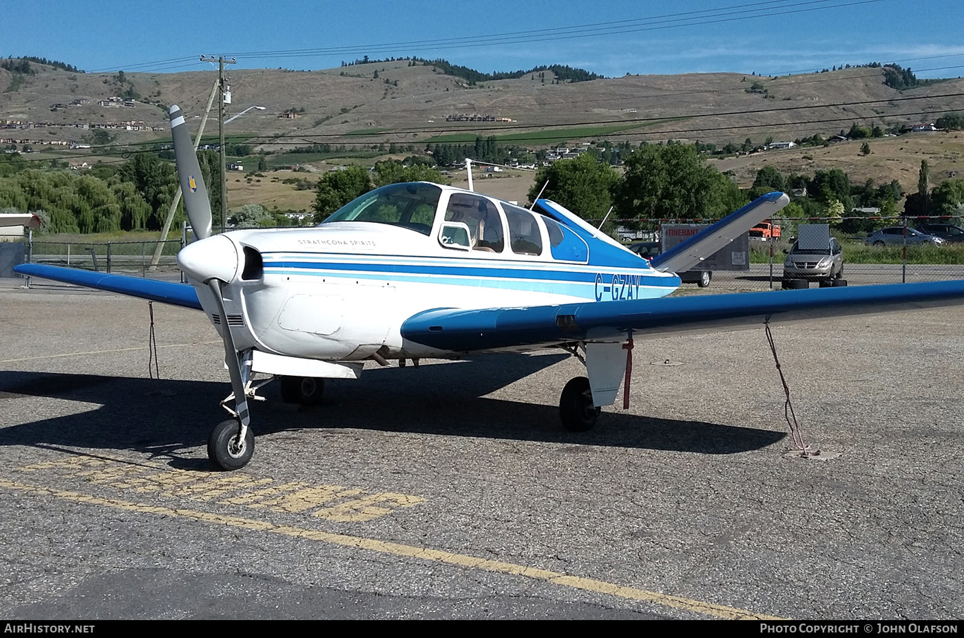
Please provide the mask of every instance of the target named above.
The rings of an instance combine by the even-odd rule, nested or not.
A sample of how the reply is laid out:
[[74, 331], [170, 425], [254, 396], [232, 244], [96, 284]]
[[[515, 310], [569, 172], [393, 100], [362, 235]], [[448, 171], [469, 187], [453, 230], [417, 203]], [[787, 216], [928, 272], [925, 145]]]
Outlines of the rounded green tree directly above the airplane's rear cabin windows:
[[613, 203], [613, 188], [619, 182], [619, 173], [589, 153], [558, 160], [536, 173], [528, 193], [530, 201], [539, 197], [547, 182], [542, 197], [561, 203], [581, 217], [600, 219]]

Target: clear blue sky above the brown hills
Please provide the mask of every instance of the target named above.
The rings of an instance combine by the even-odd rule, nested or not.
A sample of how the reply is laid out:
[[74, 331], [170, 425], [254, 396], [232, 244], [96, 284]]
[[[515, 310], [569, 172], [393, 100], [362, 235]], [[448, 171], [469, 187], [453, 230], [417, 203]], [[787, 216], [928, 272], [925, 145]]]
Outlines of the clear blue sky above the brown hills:
[[236, 55], [235, 68], [329, 68], [367, 54], [609, 77], [870, 62], [964, 75], [962, 0], [0, 0], [0, 12], [0, 56], [89, 71], [210, 68], [201, 54]]

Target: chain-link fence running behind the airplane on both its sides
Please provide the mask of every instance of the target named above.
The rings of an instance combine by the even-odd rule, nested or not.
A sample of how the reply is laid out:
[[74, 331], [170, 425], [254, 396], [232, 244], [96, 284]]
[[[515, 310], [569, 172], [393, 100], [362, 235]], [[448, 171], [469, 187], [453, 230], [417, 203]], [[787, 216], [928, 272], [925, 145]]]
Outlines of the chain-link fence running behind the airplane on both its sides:
[[[715, 220], [617, 220], [609, 222], [619, 228], [624, 243], [651, 244], [652, 253], [659, 251], [665, 226], [709, 225]], [[804, 224], [827, 224], [841, 248], [841, 259], [832, 266], [832, 279], [838, 284], [867, 285], [964, 279], [964, 230], [955, 218], [942, 217], [860, 217], [860, 218], [774, 218], [769, 226], [750, 231], [746, 242], [745, 262], [734, 270], [713, 269], [706, 292], [743, 292], [769, 290], [787, 285], [833, 283], [826, 275], [801, 277], [785, 272], [790, 264], [790, 252]], [[847, 222], [851, 224], [847, 225]], [[599, 222], [596, 222], [599, 225]], [[850, 226], [875, 227], [870, 232], [845, 232]], [[609, 226], [606, 226], [607, 228]], [[935, 234], [936, 233], [936, 234]], [[182, 279], [175, 255], [184, 246], [184, 238], [163, 242], [157, 266], [151, 258], [157, 241], [119, 242], [51, 242], [42, 236], [28, 235], [24, 246], [25, 261], [72, 268], [83, 268], [102, 273], [116, 273], [160, 279]], [[816, 267], [833, 255], [815, 255], [808, 262]], [[694, 269], [696, 270], [696, 269]], [[789, 270], [789, 269], [788, 269]], [[684, 277], [683, 281], [698, 277]], [[183, 279], [182, 279], [183, 280]], [[683, 292], [695, 286], [684, 285]]]

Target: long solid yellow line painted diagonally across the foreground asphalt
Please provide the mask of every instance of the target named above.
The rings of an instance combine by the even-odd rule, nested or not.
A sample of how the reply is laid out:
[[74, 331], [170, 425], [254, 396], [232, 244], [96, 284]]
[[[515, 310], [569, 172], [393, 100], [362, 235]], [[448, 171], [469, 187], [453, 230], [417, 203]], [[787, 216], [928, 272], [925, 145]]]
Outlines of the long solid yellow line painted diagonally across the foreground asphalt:
[[[726, 605], [713, 604], [711, 602], [694, 600], [692, 598], [683, 598], [680, 596], [669, 596], [666, 594], [660, 594], [658, 592], [651, 592], [644, 589], [637, 589], [635, 587], [624, 587], [622, 585], [616, 585], [614, 583], [605, 582], [603, 580], [596, 580], [593, 578], [583, 578], [580, 576], [573, 576], [573, 575], [560, 573], [560, 572], [550, 572], [549, 570], [540, 570], [536, 568], [525, 567], [523, 565], [516, 565], [513, 563], [505, 563], [502, 561], [494, 561], [494, 560], [489, 560], [484, 558], [477, 558], [466, 554], [457, 554], [454, 552], [443, 551], [440, 549], [429, 549], [426, 547], [416, 547], [415, 545], [402, 545], [398, 543], [389, 543], [388, 541], [378, 541], [376, 539], [368, 539], [360, 536], [350, 536], [347, 534], [333, 534], [331, 532], [322, 532], [319, 530], [305, 529], [302, 527], [276, 525], [266, 520], [254, 520], [252, 518], [231, 517], [231, 516], [224, 516], [219, 514], [212, 514], [209, 512], [199, 512], [196, 510], [186, 510], [186, 509], [179, 509], [179, 508], [174, 509], [174, 508], [163, 507], [158, 505], [147, 505], [144, 503], [132, 503], [129, 501], [123, 501], [123, 500], [118, 500], [114, 498], [103, 498], [100, 496], [82, 494], [79, 492], [67, 492], [64, 490], [56, 490], [53, 488], [43, 488], [39, 486], [27, 485], [25, 483], [18, 483], [18, 482], [9, 481], [6, 479], [0, 479], [0, 488], [5, 488], [7, 490], [13, 490], [17, 492], [28, 492], [33, 494], [54, 496], [56, 498], [61, 498], [67, 501], [75, 502], [75, 503], [85, 503], [89, 505], [111, 507], [118, 510], [124, 510], [127, 512], [137, 512], [141, 514], [156, 514], [160, 516], [168, 516], [173, 518], [191, 518], [194, 520], [201, 520], [203, 522], [228, 525], [229, 527], [251, 529], [251, 530], [261, 531], [261, 532], [270, 532], [272, 534], [281, 534], [283, 536], [306, 539], [309, 541], [319, 541], [321, 543], [328, 543], [332, 545], [342, 545], [342, 546], [353, 547], [357, 549], [366, 549], [368, 551], [375, 551], [383, 554], [390, 554], [393, 556], [405, 556], [409, 558], [415, 558], [418, 560], [444, 563], [447, 565], [456, 565], [459, 567], [475, 569], [475, 570], [484, 570], [486, 572], [508, 573], [512, 575], [524, 576], [527, 578], [534, 578], [536, 580], [543, 580], [562, 587], [570, 587], [573, 589], [579, 589], [579, 590], [584, 590], [589, 592], [597, 592], [600, 594], [615, 596], [617, 598], [626, 598], [629, 600], [641, 600], [646, 602], [653, 602], [658, 605], [662, 605], [664, 607], [671, 607], [673, 609], [681, 609], [683, 611], [695, 612], [697, 614], [703, 614], [706, 616], [711, 616], [713, 618], [720, 618], [725, 620], [783, 620], [774, 616], [757, 614], [752, 611], [747, 611], [746, 609], [738, 609], [736, 607], [728, 607]], [[402, 496], [402, 494], [399, 494], [399, 496]]]

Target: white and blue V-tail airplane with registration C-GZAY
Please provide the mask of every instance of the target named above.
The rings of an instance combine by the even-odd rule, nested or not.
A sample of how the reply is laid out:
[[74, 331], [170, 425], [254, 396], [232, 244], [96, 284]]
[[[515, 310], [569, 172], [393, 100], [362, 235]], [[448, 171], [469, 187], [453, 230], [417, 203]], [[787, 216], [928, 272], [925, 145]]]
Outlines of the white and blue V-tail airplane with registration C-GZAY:
[[[964, 304], [964, 280], [664, 299], [697, 265], [789, 199], [770, 193], [652, 262], [565, 207], [531, 210], [428, 182], [362, 195], [311, 228], [211, 234], [198, 158], [176, 106], [178, 178], [196, 241], [177, 255], [189, 283], [24, 264], [22, 275], [203, 310], [224, 340], [231, 418], [208, 440], [226, 470], [254, 453], [248, 401], [281, 378], [281, 396], [318, 402], [325, 379], [365, 361], [458, 358], [561, 348], [585, 377], [563, 389], [562, 425], [593, 427], [621, 386], [629, 407], [633, 339], [801, 319]], [[255, 384], [256, 374], [269, 375]], [[229, 403], [233, 403], [233, 409]]]

